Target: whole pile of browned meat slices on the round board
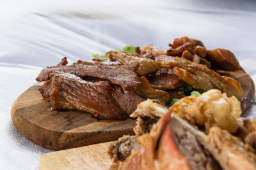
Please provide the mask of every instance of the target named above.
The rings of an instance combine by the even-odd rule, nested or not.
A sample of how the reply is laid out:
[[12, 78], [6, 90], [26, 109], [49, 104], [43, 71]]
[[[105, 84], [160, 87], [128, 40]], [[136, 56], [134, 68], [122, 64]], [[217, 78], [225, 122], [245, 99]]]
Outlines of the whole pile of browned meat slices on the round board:
[[44, 68], [36, 80], [45, 81], [40, 92], [53, 108], [106, 119], [129, 117], [147, 99], [165, 105], [172, 98], [185, 97], [182, 81], [194, 89], [220, 89], [242, 98], [238, 81], [211, 69], [243, 71], [231, 52], [206, 50], [201, 41], [187, 37], [170, 46], [138, 47], [136, 53], [110, 51], [109, 59], [78, 60], [72, 65], [64, 58], [57, 66]]

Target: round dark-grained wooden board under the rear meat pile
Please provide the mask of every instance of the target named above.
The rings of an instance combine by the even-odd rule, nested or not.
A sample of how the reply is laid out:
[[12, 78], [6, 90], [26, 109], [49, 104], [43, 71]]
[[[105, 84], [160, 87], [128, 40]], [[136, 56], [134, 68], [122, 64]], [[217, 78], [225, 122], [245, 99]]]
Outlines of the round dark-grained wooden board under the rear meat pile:
[[[246, 73], [219, 72], [241, 83], [243, 97], [253, 99], [255, 87]], [[51, 103], [42, 99], [39, 86], [30, 87], [12, 106], [12, 121], [19, 132], [33, 143], [52, 150], [114, 141], [124, 134], [133, 134], [136, 120], [97, 120], [82, 111], [51, 110]], [[241, 101], [245, 111], [250, 103]]]

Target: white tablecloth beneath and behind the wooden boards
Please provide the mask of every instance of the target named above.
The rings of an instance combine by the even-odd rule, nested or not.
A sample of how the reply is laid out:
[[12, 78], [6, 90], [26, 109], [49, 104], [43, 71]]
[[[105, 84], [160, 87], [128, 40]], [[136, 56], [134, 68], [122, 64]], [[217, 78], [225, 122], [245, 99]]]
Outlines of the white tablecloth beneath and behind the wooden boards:
[[[89, 60], [93, 53], [167, 46], [174, 38], [226, 48], [256, 80], [255, 1], [3, 1], [0, 0], [0, 169], [38, 169], [51, 152], [24, 138], [12, 124], [15, 99], [44, 66]], [[255, 117], [256, 107], [246, 117]]]

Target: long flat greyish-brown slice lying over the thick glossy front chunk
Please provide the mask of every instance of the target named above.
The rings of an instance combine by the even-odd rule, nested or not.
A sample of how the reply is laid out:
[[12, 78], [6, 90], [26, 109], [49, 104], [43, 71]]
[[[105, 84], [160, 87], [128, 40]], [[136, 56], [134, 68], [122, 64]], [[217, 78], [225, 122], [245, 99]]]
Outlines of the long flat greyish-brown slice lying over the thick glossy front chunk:
[[102, 80], [108, 80], [113, 84], [120, 85], [124, 90], [131, 90], [140, 85], [140, 80], [136, 69], [138, 63], [122, 66], [88, 66], [88, 65], [71, 65], [62, 67], [46, 67], [36, 78], [37, 81], [48, 80], [51, 73], [70, 73], [77, 76], [92, 76]]

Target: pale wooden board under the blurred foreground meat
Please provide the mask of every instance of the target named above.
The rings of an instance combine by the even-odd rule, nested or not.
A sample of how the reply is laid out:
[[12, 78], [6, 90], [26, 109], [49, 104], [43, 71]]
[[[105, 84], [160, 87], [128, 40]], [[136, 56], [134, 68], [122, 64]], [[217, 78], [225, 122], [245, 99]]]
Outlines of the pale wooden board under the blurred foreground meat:
[[[110, 142], [109, 142], [110, 143]], [[40, 156], [40, 170], [59, 169], [116, 169], [108, 155], [109, 143], [45, 153]]]

